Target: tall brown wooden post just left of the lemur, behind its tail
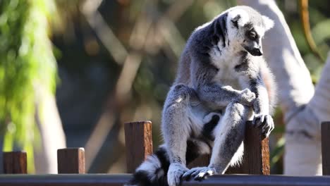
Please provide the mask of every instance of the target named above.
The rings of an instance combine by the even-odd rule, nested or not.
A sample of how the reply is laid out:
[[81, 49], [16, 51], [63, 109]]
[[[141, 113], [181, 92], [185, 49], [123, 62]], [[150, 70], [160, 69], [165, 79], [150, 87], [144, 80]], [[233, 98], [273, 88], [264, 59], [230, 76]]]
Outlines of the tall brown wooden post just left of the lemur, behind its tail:
[[134, 173], [149, 154], [152, 154], [152, 123], [125, 123], [126, 162], [128, 173]]

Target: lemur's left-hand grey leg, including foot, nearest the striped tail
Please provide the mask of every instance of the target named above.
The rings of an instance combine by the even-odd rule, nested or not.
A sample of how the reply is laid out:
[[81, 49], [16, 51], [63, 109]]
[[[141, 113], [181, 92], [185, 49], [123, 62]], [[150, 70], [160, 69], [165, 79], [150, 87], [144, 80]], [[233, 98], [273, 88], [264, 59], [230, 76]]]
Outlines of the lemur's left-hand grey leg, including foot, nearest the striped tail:
[[198, 104], [195, 90], [182, 84], [171, 87], [164, 104], [161, 129], [169, 153], [167, 180], [170, 186], [180, 185], [181, 176], [188, 171], [185, 159], [187, 141], [196, 128], [192, 104]]

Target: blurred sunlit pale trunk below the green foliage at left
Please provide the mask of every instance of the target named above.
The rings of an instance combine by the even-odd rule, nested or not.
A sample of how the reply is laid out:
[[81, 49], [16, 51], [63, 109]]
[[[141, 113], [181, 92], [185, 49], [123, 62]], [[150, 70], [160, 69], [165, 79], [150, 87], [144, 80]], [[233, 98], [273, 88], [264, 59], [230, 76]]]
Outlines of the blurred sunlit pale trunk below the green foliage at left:
[[36, 122], [40, 132], [40, 146], [35, 147], [35, 173], [57, 173], [57, 149], [66, 148], [66, 137], [54, 95], [38, 87]]

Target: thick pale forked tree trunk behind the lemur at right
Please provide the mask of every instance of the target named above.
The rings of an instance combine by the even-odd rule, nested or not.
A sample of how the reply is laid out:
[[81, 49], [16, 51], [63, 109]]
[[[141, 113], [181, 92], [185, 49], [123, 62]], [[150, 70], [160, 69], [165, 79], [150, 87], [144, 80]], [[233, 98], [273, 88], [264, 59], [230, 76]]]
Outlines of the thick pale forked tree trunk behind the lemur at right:
[[[321, 175], [320, 121], [329, 120], [329, 73], [314, 86], [288, 24], [274, 0], [238, 0], [275, 22], [264, 37], [264, 53], [279, 87], [279, 104], [286, 123], [286, 175]], [[324, 71], [330, 70], [330, 59]], [[313, 97], [314, 96], [314, 97]]]

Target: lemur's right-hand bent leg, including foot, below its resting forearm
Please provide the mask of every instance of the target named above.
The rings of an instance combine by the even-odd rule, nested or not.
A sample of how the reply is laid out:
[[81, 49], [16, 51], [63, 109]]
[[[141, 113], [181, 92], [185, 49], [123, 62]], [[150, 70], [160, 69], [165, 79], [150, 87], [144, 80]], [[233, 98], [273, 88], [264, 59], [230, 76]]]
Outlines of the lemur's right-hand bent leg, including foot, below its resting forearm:
[[214, 129], [215, 140], [209, 166], [192, 168], [183, 175], [183, 179], [201, 180], [207, 175], [224, 173], [229, 163], [233, 163], [231, 160], [243, 142], [245, 122], [251, 111], [250, 107], [237, 101], [228, 104], [219, 125]]

